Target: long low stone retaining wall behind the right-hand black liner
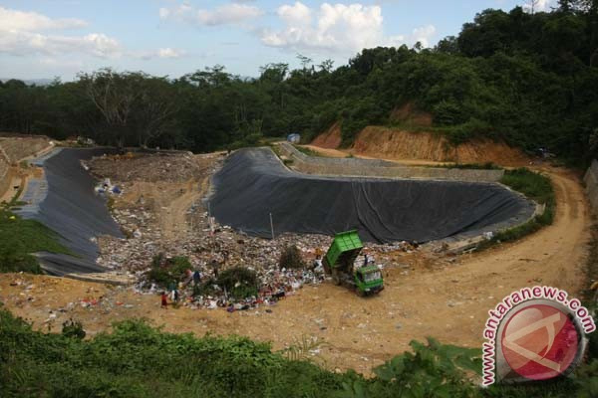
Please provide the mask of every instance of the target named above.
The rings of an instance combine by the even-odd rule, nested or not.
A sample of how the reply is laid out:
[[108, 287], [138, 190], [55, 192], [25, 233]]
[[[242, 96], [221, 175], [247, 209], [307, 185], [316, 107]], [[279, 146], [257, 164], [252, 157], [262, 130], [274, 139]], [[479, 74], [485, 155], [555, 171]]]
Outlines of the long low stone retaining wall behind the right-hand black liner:
[[289, 143], [279, 146], [282, 155], [293, 161], [297, 171], [320, 175], [352, 175], [360, 177], [419, 178], [496, 183], [504, 170], [450, 169], [440, 167], [403, 166], [393, 162], [360, 158], [321, 158], [307, 156]]

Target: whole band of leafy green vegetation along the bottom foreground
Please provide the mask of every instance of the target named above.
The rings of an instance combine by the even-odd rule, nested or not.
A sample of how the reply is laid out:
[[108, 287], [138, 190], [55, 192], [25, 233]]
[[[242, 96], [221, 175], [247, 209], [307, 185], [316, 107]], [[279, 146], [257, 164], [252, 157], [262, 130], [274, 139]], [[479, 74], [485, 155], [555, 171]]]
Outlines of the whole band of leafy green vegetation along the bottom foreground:
[[481, 389], [472, 381], [481, 369], [480, 350], [431, 338], [412, 341], [411, 351], [365, 379], [310, 362], [310, 351], [324, 345], [305, 338], [273, 353], [267, 343], [168, 334], [141, 320], [116, 323], [111, 334], [91, 340], [83, 340], [79, 326], [69, 323], [62, 334], [43, 334], [0, 310], [2, 396], [566, 398], [595, 396], [598, 378], [595, 353], [573, 378]]

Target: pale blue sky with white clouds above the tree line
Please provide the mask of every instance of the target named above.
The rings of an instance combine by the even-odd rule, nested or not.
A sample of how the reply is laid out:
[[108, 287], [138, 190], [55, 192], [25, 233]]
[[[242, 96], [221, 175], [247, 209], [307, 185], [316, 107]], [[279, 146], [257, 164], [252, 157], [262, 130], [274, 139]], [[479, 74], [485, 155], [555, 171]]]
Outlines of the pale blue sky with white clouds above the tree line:
[[[65, 81], [103, 66], [178, 77], [223, 64], [344, 64], [363, 47], [434, 45], [486, 8], [530, 0], [0, 0], [0, 77]], [[539, 0], [548, 10], [553, 0]]]

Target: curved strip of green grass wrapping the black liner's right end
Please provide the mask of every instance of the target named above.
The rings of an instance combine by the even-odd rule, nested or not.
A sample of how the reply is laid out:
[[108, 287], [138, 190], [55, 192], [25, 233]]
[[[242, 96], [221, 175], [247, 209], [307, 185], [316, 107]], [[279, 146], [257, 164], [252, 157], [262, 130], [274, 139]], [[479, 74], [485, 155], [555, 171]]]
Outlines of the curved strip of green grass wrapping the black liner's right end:
[[527, 198], [545, 205], [544, 213], [536, 215], [536, 217], [533, 217], [520, 226], [495, 233], [492, 239], [480, 242], [477, 246], [478, 250], [485, 249], [496, 243], [512, 242], [521, 239], [521, 237], [534, 233], [542, 227], [552, 224], [554, 221], [556, 198], [550, 178], [533, 172], [528, 168], [518, 168], [505, 171], [501, 183], [515, 191], [523, 193]]

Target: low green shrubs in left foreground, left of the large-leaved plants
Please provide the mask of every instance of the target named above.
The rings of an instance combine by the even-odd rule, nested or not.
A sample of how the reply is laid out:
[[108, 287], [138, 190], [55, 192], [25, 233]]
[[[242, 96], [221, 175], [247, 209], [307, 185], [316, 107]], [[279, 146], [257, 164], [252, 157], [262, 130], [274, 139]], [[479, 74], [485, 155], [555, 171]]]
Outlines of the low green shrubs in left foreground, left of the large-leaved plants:
[[329, 397], [358, 378], [241, 337], [167, 334], [128, 320], [86, 341], [34, 332], [0, 311], [2, 397]]

